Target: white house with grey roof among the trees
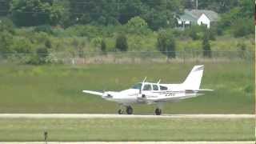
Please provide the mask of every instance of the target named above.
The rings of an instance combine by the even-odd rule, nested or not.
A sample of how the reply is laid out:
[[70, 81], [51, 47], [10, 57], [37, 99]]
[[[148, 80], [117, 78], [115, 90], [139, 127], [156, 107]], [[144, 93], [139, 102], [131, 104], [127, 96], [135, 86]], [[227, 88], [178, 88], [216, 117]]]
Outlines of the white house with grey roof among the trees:
[[185, 10], [177, 20], [178, 27], [206, 25], [207, 28], [210, 28], [212, 23], [218, 21], [218, 14], [212, 10]]

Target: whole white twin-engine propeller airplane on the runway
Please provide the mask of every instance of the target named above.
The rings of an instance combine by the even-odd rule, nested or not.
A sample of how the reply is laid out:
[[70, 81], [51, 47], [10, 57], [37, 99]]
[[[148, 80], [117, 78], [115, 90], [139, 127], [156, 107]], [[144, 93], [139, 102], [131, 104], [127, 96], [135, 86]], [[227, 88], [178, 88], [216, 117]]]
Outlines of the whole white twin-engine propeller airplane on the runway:
[[[199, 92], [213, 91], [208, 89], [199, 89], [204, 66], [194, 66], [187, 76], [186, 80], [181, 84], [162, 84], [159, 80], [157, 83], [139, 82], [128, 90], [122, 91], [106, 91], [97, 92], [90, 90], [82, 90], [87, 94], [102, 96], [102, 98], [118, 102], [121, 107], [126, 107], [127, 114], [133, 114], [132, 104], [157, 104], [154, 110], [156, 115], [162, 114], [162, 104], [165, 102], [178, 102], [186, 98], [197, 97]], [[118, 114], [123, 114], [122, 108], [118, 110]]]

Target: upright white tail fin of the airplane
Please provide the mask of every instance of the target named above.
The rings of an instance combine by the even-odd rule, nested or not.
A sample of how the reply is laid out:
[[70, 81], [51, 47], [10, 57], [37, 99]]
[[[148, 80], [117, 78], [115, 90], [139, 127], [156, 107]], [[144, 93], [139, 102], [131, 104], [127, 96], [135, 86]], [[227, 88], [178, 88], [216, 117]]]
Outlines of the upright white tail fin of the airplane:
[[200, 88], [203, 68], [203, 65], [193, 67], [190, 74], [186, 77], [186, 80], [182, 83], [182, 86], [186, 90], [198, 90]]

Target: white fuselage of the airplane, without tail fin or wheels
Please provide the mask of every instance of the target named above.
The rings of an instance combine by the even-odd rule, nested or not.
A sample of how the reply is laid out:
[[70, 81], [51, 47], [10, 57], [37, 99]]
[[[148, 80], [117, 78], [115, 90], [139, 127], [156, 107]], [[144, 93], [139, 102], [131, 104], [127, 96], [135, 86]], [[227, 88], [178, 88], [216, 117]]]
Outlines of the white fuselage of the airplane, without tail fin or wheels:
[[[119, 92], [107, 91], [106, 95], [102, 98], [118, 102], [123, 105], [129, 106], [130, 104], [153, 104], [156, 102], [177, 102], [183, 96], [186, 98], [192, 98], [197, 95], [196, 92], [188, 93], [181, 85], [178, 84], [157, 84], [157, 83], [144, 83], [144, 85], [150, 85], [151, 88], [155, 86], [155, 90], [143, 90], [143, 94], [140, 94], [138, 89], [128, 89]], [[157, 88], [158, 87], [158, 88]], [[165, 90], [161, 90], [165, 89]], [[185, 98], [185, 97], [184, 97]]]

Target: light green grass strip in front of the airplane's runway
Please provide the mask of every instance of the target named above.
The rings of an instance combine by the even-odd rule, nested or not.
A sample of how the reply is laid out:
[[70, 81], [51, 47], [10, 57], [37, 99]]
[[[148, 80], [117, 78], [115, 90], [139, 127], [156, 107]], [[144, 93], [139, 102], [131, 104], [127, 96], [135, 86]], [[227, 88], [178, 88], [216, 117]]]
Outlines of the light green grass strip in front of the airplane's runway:
[[252, 141], [254, 119], [0, 119], [0, 140]]

